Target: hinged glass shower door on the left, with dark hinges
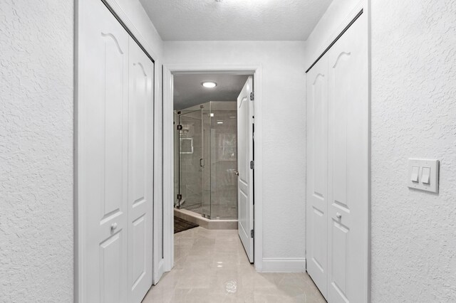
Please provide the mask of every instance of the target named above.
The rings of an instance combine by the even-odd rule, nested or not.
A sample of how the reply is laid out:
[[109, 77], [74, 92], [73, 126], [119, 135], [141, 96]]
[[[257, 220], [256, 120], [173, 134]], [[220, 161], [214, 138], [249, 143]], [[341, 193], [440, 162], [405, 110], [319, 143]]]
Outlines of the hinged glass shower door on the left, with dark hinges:
[[202, 213], [202, 111], [179, 116], [179, 208]]

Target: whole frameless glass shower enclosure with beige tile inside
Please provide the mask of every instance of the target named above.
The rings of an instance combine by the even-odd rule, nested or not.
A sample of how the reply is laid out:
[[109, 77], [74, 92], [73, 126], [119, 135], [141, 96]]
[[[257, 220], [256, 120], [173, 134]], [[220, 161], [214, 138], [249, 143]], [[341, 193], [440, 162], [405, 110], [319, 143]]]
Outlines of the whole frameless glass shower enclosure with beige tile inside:
[[237, 103], [175, 112], [175, 207], [237, 219]]

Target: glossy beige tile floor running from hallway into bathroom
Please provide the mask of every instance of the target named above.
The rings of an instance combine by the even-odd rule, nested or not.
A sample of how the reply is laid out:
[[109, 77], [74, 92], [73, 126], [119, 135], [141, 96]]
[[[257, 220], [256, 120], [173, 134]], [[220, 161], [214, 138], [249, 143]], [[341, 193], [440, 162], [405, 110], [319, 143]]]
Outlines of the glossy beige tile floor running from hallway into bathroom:
[[175, 234], [175, 267], [142, 301], [326, 302], [306, 273], [259, 273], [237, 230], [201, 227]]

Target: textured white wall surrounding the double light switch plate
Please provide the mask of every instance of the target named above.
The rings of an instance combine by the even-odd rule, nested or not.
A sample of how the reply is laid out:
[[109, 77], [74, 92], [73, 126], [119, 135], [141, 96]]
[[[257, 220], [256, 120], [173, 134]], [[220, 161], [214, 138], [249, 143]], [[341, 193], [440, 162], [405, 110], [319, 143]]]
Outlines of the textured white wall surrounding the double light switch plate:
[[[372, 299], [456, 302], [456, 1], [372, 2]], [[407, 159], [440, 159], [438, 195]]]

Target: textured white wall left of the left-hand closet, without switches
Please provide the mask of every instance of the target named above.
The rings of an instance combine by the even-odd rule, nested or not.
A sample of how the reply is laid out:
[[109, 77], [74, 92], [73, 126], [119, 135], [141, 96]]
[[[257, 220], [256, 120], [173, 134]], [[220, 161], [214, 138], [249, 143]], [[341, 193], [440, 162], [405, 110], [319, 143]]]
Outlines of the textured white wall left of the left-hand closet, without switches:
[[73, 1], [0, 16], [0, 302], [71, 302]]

